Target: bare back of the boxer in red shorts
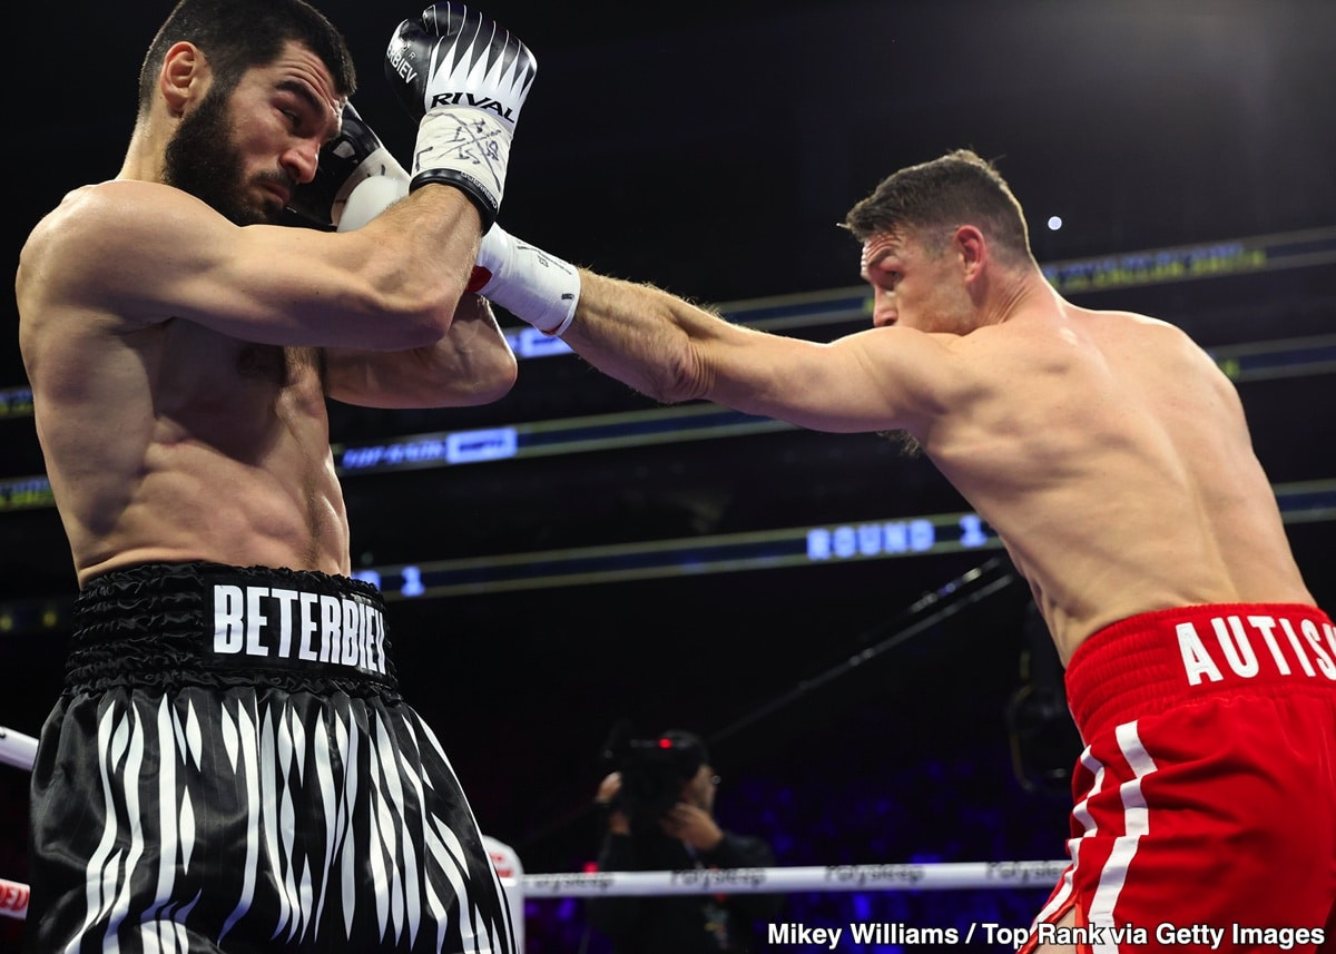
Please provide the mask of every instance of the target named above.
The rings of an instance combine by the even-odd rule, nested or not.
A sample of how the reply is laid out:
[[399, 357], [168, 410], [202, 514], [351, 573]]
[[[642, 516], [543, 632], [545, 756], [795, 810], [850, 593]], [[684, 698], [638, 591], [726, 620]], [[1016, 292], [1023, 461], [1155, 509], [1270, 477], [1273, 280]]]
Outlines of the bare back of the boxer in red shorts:
[[925, 446], [998, 530], [1063, 661], [1128, 616], [1305, 603], [1237, 394], [1180, 330], [1059, 303], [961, 339]]

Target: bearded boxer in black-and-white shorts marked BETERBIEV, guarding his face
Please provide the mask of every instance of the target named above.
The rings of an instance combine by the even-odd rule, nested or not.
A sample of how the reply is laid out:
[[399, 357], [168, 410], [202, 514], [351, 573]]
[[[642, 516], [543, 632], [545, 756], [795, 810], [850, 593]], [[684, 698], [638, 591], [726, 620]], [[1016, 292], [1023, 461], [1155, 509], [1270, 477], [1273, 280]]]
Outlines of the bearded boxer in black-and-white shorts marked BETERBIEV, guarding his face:
[[[19, 343], [81, 589], [33, 774], [31, 951], [514, 949], [347, 579], [326, 401], [514, 382], [466, 289], [534, 64], [460, 4], [403, 20], [387, 60], [413, 195], [338, 231], [357, 186], [407, 179], [349, 104], [343, 37], [303, 0], [180, 0], [120, 172], [24, 245]], [[442, 91], [465, 106], [428, 110]], [[440, 147], [458, 128], [485, 174]]]

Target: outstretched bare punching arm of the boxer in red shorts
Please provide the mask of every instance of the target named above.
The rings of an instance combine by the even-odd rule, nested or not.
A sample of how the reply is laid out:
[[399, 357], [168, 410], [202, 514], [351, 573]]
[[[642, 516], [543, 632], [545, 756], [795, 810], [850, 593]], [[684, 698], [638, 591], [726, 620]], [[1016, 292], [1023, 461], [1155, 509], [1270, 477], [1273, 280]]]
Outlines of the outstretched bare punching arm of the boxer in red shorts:
[[830, 432], [919, 433], [961, 385], [959, 338], [872, 329], [831, 343], [731, 325], [657, 289], [580, 273], [562, 339], [664, 402], [708, 398]]

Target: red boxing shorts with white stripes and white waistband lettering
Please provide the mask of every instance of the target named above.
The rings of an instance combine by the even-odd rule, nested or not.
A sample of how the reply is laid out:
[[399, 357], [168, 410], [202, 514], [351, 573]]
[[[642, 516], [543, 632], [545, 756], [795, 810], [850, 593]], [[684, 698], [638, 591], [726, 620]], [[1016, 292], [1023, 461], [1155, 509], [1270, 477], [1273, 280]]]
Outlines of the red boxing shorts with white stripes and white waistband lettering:
[[1336, 628], [1325, 613], [1142, 613], [1090, 636], [1066, 685], [1086, 742], [1071, 864], [1026, 950], [1336, 951]]

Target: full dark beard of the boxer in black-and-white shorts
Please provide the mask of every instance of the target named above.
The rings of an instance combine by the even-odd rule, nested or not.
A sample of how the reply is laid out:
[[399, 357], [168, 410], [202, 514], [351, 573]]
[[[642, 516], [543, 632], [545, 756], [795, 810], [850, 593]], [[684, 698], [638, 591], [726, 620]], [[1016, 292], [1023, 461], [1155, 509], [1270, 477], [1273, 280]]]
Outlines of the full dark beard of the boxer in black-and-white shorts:
[[274, 222], [275, 215], [246, 199], [244, 162], [232, 135], [230, 103], [230, 91], [215, 84], [194, 112], [182, 118], [167, 143], [163, 179], [235, 224]]

